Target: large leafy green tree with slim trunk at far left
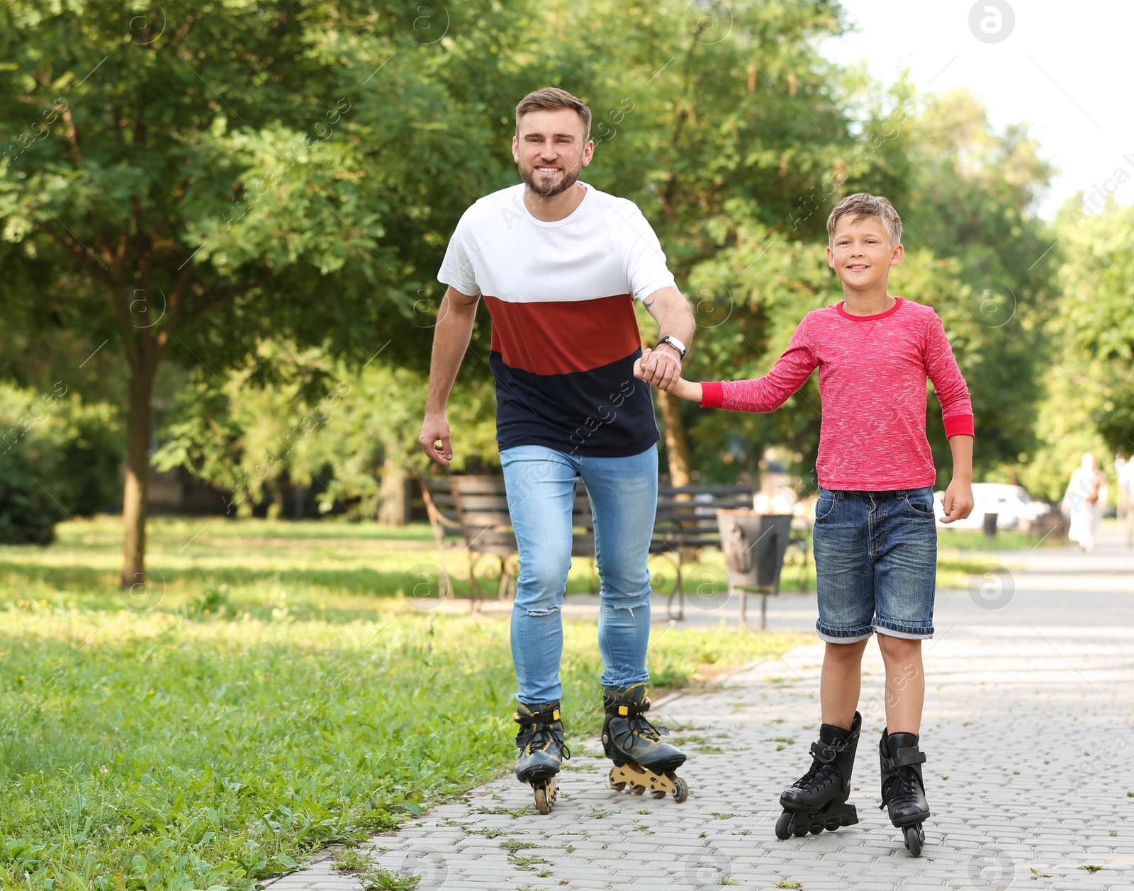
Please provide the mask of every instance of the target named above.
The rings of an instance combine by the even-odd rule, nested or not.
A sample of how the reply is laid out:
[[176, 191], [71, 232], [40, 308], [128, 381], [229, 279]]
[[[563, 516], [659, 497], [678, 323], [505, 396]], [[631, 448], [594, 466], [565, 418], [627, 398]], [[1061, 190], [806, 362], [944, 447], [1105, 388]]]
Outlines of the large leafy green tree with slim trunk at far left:
[[[506, 18], [463, 11], [469, 41]], [[218, 375], [284, 336], [420, 363], [409, 320], [455, 184], [484, 180], [484, 109], [413, 5], [3, 0], [0, 22], [5, 312], [126, 357], [128, 587], [161, 362]]]

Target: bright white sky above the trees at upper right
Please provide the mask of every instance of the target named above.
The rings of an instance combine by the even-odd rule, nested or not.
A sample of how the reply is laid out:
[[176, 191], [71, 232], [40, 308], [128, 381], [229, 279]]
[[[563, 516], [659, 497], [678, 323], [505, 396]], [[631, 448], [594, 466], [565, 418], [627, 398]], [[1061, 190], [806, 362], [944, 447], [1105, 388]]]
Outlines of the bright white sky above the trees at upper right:
[[[1095, 188], [1108, 188], [1122, 204], [1134, 202], [1132, 0], [841, 3], [857, 31], [824, 42], [828, 58], [865, 61], [887, 85], [908, 67], [919, 93], [964, 86], [984, 101], [997, 128], [1033, 125], [1041, 154], [1061, 171], [1040, 206], [1042, 217], [1053, 217], [1081, 189], [1089, 198]], [[978, 32], [1007, 36], [979, 40], [970, 28], [974, 7], [975, 18], [984, 20]], [[1010, 31], [1009, 15], [989, 7], [1008, 7]], [[1094, 207], [1086, 203], [1088, 211], [1097, 210], [1101, 197]]]

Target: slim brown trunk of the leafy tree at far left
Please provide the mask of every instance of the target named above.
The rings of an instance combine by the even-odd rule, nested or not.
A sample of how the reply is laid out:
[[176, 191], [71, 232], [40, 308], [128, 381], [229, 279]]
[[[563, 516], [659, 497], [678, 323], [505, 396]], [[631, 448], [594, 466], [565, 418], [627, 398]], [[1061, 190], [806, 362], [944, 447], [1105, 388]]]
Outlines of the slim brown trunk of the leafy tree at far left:
[[145, 586], [145, 521], [150, 490], [150, 399], [158, 362], [142, 355], [130, 363], [130, 408], [126, 422], [126, 486], [122, 492], [122, 524], [126, 535], [120, 585], [129, 589]]

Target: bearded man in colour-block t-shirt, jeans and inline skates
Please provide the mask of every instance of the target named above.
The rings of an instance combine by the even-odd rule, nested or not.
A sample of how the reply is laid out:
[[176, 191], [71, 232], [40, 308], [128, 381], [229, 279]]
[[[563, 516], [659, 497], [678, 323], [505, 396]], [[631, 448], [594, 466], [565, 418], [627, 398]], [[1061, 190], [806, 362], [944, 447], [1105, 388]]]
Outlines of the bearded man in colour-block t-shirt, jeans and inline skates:
[[[558, 88], [516, 107], [513, 159], [523, 184], [488, 195], [462, 217], [438, 280], [438, 312], [421, 444], [452, 459], [446, 405], [481, 297], [492, 317], [497, 440], [519, 549], [511, 650], [519, 685], [516, 777], [548, 813], [566, 753], [560, 720], [560, 606], [570, 568], [572, 507], [582, 477], [594, 517], [602, 579], [599, 648], [603, 745], [611, 782], [685, 798], [685, 762], [644, 718], [649, 672], [646, 558], [658, 502], [658, 426], [650, 388], [677, 380], [693, 313], [661, 246], [629, 201], [578, 181], [591, 163], [591, 111]], [[642, 355], [634, 314], [657, 320], [658, 347]]]

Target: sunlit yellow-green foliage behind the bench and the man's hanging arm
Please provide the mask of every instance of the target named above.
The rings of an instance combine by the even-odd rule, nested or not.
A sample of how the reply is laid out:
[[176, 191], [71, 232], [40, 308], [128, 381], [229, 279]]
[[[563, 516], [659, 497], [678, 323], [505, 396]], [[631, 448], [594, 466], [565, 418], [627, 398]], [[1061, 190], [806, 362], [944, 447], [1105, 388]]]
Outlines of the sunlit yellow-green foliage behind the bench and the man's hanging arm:
[[[424, 473], [417, 446], [424, 375], [381, 362], [352, 372], [318, 349], [264, 341], [257, 363], [217, 381], [195, 374], [154, 456], [159, 468], [184, 465], [231, 492], [229, 510], [248, 516], [281, 486], [322, 486], [320, 510], [349, 506], [373, 517], [383, 465]], [[266, 376], [261, 372], [266, 368]], [[490, 385], [471, 377], [456, 393], [450, 416], [460, 431], [456, 467], [496, 455], [496, 400]]]

